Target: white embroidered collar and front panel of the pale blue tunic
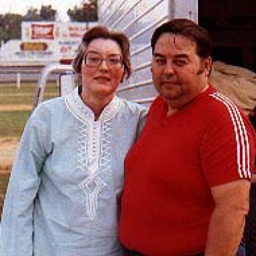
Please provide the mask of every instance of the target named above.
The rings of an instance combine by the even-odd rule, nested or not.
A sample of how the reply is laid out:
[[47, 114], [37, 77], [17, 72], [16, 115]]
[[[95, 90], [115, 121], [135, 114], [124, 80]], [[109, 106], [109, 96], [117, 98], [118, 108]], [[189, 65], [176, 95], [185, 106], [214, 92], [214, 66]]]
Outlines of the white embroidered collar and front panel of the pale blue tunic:
[[107, 186], [102, 174], [111, 172], [111, 119], [119, 109], [119, 101], [115, 97], [98, 121], [94, 121], [91, 109], [80, 99], [77, 90], [67, 95], [65, 102], [69, 111], [83, 123], [79, 127], [77, 169], [86, 172], [87, 177], [79, 183], [79, 187], [85, 193], [87, 216], [94, 219], [99, 193]]

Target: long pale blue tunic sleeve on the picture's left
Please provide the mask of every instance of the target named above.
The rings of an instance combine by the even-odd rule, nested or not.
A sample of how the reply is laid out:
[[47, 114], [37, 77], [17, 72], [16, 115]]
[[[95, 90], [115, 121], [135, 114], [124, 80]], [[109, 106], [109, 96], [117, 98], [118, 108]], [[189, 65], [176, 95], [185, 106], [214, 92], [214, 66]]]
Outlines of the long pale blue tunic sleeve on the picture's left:
[[2, 215], [3, 256], [33, 255], [33, 203], [40, 171], [51, 151], [47, 114], [36, 109], [25, 126], [13, 164]]

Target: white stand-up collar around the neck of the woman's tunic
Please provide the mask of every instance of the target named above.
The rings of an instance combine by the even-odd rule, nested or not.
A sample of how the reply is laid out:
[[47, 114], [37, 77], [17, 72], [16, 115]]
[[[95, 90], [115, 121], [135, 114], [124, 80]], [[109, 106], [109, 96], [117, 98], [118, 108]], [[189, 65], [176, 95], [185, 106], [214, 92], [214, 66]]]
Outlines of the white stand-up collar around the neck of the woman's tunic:
[[[73, 89], [73, 91], [65, 96], [65, 103], [67, 108], [75, 117], [81, 119], [81, 121], [87, 123], [88, 121], [94, 121], [93, 111], [85, 105], [78, 93], [78, 87]], [[108, 121], [112, 119], [115, 114], [119, 111], [120, 99], [116, 95], [110, 101], [110, 103], [103, 109], [99, 119], [97, 121]]]

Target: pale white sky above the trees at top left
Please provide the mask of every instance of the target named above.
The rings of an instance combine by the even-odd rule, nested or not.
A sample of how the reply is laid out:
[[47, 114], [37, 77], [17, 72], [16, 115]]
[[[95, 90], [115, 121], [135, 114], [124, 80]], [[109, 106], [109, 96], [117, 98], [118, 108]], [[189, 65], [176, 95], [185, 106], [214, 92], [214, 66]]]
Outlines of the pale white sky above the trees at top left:
[[59, 20], [68, 21], [67, 10], [75, 5], [81, 6], [83, 0], [0, 0], [0, 14], [19, 13], [25, 15], [29, 7], [41, 9], [42, 5], [51, 5], [57, 10]]

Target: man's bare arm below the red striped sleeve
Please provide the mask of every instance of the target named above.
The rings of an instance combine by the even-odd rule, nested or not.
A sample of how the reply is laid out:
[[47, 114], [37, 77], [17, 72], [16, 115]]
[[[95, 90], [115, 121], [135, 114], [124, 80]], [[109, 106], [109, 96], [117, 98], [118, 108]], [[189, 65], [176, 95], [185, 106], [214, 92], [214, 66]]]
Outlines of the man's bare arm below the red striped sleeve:
[[250, 182], [238, 180], [211, 187], [215, 209], [209, 223], [205, 256], [234, 256], [249, 209]]

